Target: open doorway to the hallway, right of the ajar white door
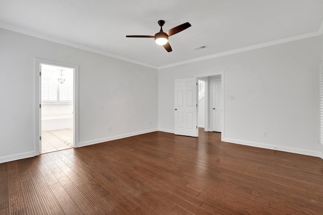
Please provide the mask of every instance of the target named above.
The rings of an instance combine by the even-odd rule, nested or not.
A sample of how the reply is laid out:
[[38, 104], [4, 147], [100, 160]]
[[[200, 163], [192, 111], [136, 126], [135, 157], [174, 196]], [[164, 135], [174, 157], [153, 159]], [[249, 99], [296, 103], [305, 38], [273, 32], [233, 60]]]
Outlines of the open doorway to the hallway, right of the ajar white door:
[[224, 74], [198, 78], [198, 126], [224, 138]]

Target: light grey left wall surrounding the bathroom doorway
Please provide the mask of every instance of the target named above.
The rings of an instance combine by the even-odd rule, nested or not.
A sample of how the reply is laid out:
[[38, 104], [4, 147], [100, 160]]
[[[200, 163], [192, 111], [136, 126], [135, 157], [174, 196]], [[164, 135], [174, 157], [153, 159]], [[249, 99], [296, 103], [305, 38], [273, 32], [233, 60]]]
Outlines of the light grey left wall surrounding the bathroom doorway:
[[0, 163], [34, 155], [35, 57], [79, 65], [79, 146], [157, 129], [156, 69], [0, 29]]

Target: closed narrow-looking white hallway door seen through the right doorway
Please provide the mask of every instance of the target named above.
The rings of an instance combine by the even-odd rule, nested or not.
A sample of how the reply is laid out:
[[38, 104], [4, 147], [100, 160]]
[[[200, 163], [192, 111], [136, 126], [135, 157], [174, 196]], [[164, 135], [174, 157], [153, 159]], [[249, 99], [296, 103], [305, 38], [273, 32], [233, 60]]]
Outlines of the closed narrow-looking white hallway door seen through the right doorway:
[[221, 81], [212, 81], [213, 131], [221, 132]]

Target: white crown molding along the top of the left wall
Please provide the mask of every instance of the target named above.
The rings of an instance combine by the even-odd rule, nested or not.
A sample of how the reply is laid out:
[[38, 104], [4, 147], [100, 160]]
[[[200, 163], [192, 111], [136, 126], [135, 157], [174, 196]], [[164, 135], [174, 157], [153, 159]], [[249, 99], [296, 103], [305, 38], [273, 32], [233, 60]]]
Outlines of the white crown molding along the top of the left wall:
[[19, 27], [13, 26], [13, 25], [9, 25], [9, 24], [3, 23], [3, 22], [0, 22], [0, 28], [7, 29], [7, 30], [10, 30], [10, 31], [14, 31], [14, 32], [18, 32], [18, 33], [25, 34], [25, 35], [28, 35], [28, 36], [36, 37], [36, 38], [39, 38], [39, 39], [48, 40], [48, 41], [51, 41], [51, 42], [60, 43], [60, 44], [63, 44], [63, 45], [71, 46], [71, 47], [82, 49], [82, 50], [85, 50], [85, 51], [90, 51], [90, 52], [93, 52], [93, 53], [96, 53], [96, 54], [102, 54], [102, 55], [105, 55], [105, 56], [108, 56], [108, 57], [113, 57], [113, 58], [116, 58], [116, 59], [119, 59], [119, 60], [128, 61], [128, 62], [135, 63], [135, 64], [138, 64], [138, 65], [143, 65], [143, 66], [147, 66], [147, 67], [150, 67], [150, 68], [158, 69], [158, 67], [150, 65], [150, 64], [147, 64], [147, 63], [143, 63], [143, 62], [133, 60], [133, 59], [130, 59], [130, 58], [126, 58], [126, 57], [123, 57], [123, 56], [111, 54], [109, 52], [106, 52], [106, 51], [103, 51], [103, 50], [100, 50], [100, 49], [96, 49], [96, 48], [92, 48], [92, 47], [89, 47], [89, 46], [81, 45], [81, 44], [74, 43], [74, 42], [71, 42], [71, 41], [68, 41], [68, 40], [63, 40], [63, 39], [59, 39], [59, 38], [56, 38], [56, 37], [51, 37], [51, 36], [48, 36], [48, 35], [45, 35], [45, 34], [40, 34], [40, 33], [34, 32], [34, 31], [30, 31], [30, 30], [27, 30], [27, 29], [23, 29], [23, 28], [19, 28]]

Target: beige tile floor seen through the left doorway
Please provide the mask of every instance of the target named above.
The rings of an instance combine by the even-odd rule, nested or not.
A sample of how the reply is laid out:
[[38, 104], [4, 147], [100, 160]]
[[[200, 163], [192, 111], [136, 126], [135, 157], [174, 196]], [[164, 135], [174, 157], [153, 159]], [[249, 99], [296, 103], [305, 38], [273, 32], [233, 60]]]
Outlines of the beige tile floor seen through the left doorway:
[[73, 148], [73, 128], [41, 132], [41, 153]]

